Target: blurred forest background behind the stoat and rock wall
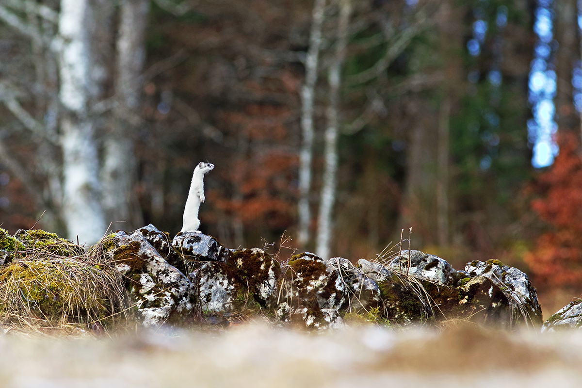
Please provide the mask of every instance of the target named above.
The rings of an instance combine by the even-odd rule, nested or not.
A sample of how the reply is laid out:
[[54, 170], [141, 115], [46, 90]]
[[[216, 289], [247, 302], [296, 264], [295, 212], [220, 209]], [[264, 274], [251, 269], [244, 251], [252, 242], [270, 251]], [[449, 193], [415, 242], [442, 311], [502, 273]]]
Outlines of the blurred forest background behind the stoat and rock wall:
[[208, 161], [226, 247], [357, 261], [404, 230], [525, 270], [549, 316], [582, 293], [579, 9], [0, 0], [2, 228], [173, 234]]

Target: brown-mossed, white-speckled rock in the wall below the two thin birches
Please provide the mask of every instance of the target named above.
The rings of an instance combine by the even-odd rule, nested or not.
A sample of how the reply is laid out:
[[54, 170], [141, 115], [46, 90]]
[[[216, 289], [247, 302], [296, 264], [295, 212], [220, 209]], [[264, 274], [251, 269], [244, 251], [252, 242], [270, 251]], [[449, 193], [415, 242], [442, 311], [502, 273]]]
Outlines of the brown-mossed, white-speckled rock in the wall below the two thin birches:
[[275, 314], [283, 322], [301, 322], [307, 328], [343, 326], [340, 312], [349, 296], [338, 268], [306, 252], [289, 261], [281, 282], [282, 298]]

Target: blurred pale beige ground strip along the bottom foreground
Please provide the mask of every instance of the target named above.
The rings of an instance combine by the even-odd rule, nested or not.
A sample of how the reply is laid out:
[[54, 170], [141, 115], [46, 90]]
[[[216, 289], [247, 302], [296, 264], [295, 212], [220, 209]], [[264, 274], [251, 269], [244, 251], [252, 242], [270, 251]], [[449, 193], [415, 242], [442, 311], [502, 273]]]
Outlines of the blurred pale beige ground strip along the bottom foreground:
[[452, 323], [308, 334], [253, 323], [223, 332], [0, 337], [3, 387], [579, 387], [581, 378], [582, 330]]

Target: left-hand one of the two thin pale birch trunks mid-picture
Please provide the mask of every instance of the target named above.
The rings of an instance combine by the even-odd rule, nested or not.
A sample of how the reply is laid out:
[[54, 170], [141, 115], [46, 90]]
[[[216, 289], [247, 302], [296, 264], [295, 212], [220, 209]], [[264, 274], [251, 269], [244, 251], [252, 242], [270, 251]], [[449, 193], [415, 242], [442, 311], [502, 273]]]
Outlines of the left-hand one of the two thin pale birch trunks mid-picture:
[[326, 0], [315, 0], [309, 38], [309, 49], [305, 61], [305, 84], [301, 88], [301, 130], [303, 141], [299, 153], [299, 236], [297, 242], [305, 246], [309, 240], [311, 211], [309, 191], [311, 186], [311, 159], [313, 159], [313, 111], [317, 64], [321, 48], [321, 26], [324, 20]]

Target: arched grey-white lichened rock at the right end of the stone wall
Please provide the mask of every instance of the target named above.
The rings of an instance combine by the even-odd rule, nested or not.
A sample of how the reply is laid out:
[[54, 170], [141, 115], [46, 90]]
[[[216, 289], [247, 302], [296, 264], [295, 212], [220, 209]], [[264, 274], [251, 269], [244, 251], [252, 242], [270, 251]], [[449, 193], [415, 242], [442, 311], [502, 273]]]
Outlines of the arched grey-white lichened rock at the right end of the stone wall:
[[512, 305], [514, 321], [542, 325], [542, 309], [538, 303], [537, 291], [524, 272], [503, 265], [499, 260], [475, 260], [465, 266], [464, 273], [469, 277], [485, 276], [498, 284]]

